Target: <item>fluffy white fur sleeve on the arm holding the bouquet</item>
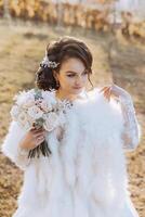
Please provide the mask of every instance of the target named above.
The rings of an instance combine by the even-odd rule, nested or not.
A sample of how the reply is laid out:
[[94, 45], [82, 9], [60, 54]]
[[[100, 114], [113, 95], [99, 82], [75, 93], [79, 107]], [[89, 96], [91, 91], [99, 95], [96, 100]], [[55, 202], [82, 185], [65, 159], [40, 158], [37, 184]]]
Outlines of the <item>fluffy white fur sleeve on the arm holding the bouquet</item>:
[[16, 122], [12, 122], [9, 127], [8, 135], [2, 143], [2, 152], [21, 169], [25, 170], [29, 164], [28, 152], [21, 150], [18, 143], [25, 136], [25, 130], [22, 129]]

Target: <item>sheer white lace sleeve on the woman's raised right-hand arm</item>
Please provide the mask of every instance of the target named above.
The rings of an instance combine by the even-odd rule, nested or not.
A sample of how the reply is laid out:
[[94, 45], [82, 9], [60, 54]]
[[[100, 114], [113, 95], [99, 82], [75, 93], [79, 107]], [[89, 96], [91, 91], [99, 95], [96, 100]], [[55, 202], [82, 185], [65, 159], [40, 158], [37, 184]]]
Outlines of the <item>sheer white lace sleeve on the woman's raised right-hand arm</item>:
[[140, 141], [140, 125], [131, 97], [119, 97], [119, 101], [124, 119], [124, 130], [122, 133], [123, 149], [132, 151], [137, 146]]

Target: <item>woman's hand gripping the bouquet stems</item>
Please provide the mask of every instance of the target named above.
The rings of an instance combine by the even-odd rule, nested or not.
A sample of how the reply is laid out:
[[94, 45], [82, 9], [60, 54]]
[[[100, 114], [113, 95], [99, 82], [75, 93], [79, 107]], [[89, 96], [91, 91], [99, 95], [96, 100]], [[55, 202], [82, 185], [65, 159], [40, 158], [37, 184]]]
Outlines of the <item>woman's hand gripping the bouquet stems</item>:
[[44, 141], [45, 132], [42, 128], [32, 127], [21, 140], [19, 146], [26, 150], [35, 149]]

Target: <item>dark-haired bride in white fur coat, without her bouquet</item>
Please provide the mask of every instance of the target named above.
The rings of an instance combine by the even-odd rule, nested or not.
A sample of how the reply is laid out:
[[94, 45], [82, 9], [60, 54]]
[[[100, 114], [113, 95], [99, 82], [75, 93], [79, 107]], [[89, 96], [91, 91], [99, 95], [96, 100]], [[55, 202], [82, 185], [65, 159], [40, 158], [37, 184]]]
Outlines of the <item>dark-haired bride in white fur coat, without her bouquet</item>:
[[[67, 124], [52, 132], [24, 131], [12, 122], [3, 153], [24, 174], [13, 217], [137, 217], [130, 200], [124, 151], [139, 143], [130, 94], [110, 85], [87, 91], [92, 54], [82, 41], [63, 37], [50, 43], [36, 84], [50, 100], [68, 100]], [[24, 95], [25, 98], [25, 95]], [[28, 158], [44, 140], [51, 155]]]

